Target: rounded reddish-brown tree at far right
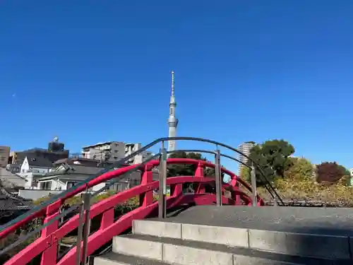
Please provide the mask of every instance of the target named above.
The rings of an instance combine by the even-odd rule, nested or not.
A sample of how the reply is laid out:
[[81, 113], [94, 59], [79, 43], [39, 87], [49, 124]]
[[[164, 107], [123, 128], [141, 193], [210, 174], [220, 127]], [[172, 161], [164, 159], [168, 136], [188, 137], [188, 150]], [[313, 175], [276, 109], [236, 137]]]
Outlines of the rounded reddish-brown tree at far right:
[[324, 162], [316, 166], [316, 181], [319, 183], [335, 183], [347, 175], [349, 175], [349, 171], [335, 162]]

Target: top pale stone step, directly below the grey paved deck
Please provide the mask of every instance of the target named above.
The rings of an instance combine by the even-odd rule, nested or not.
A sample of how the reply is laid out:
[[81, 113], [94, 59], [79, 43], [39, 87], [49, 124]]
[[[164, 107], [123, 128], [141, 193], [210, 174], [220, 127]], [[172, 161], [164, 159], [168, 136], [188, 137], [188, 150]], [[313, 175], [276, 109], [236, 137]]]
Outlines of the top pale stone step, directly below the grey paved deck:
[[[199, 221], [202, 223], [202, 220]], [[300, 232], [234, 228], [217, 225], [176, 223], [163, 220], [133, 220], [133, 234], [169, 237], [245, 247], [264, 252], [321, 259], [351, 259], [352, 238], [343, 235], [316, 235]]]

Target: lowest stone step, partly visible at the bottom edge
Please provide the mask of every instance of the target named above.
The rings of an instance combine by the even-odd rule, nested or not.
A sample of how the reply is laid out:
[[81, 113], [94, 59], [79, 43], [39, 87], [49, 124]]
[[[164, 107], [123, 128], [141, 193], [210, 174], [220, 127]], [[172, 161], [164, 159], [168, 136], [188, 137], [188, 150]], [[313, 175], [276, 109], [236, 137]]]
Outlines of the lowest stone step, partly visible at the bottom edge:
[[167, 265], [164, 262], [123, 254], [108, 253], [94, 258], [94, 265]]

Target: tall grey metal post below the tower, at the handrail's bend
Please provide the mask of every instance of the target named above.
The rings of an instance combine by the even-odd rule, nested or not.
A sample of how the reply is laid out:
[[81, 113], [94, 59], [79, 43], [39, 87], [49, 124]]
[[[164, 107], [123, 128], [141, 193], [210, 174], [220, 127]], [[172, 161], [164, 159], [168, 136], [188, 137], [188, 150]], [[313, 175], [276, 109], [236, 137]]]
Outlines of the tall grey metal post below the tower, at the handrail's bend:
[[165, 218], [167, 215], [167, 150], [164, 148], [162, 141], [162, 148], [160, 149], [160, 190], [158, 192], [158, 217]]

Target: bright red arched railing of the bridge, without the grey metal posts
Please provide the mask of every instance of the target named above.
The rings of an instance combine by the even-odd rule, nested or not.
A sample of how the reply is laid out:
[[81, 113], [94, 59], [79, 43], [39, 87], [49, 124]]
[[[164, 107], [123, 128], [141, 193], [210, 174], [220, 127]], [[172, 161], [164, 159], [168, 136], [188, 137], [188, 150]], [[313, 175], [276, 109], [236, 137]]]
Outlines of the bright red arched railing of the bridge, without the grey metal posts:
[[[205, 192], [205, 185], [210, 184], [215, 186], [215, 178], [205, 177], [204, 168], [205, 167], [215, 167], [213, 163], [205, 162], [203, 160], [193, 160], [184, 158], [169, 158], [167, 160], [168, 164], [191, 164], [196, 165], [196, 172], [193, 176], [179, 176], [179, 177], [168, 177], [167, 185], [170, 186], [170, 196], [167, 197], [167, 208], [172, 208], [174, 206], [179, 206], [182, 204], [215, 204], [216, 195]], [[153, 201], [153, 191], [159, 188], [159, 182], [152, 180], [152, 169], [153, 167], [160, 165], [159, 160], [152, 160], [146, 165], [131, 165], [128, 167], [120, 168], [118, 170], [113, 170], [111, 172], [106, 172], [100, 177], [92, 179], [88, 182], [86, 187], [79, 187], [74, 192], [67, 194], [65, 197], [55, 201], [50, 204], [42, 211], [34, 213], [32, 216], [28, 217], [28, 220], [33, 218], [43, 216], [44, 225], [47, 223], [40, 237], [32, 242], [32, 244], [25, 247], [18, 254], [13, 256], [11, 259], [6, 261], [6, 265], [25, 265], [28, 264], [32, 259], [35, 259], [41, 254], [40, 260], [42, 265], [71, 265], [75, 264], [78, 259], [83, 259], [85, 255], [93, 254], [97, 249], [105, 245], [109, 240], [112, 240], [114, 235], [119, 235], [128, 228], [131, 228], [133, 219], [141, 219], [147, 216], [153, 216], [156, 214], [158, 207], [158, 202]], [[83, 213], [83, 218], [100, 218], [100, 227], [97, 231], [92, 232], [87, 239], [87, 249], [85, 253], [80, 253], [78, 256], [78, 247], [72, 247], [64, 257], [58, 259], [58, 243], [66, 235], [73, 230], [79, 228], [80, 215], [76, 214], [70, 218], [66, 223], [59, 225], [59, 220], [54, 220], [60, 215], [60, 208], [64, 204], [64, 201], [68, 198], [76, 196], [80, 192], [84, 192], [85, 189], [94, 187], [102, 182], [107, 182], [109, 179], [119, 177], [131, 169], [141, 170], [141, 182], [140, 185], [133, 187], [131, 189], [125, 190], [113, 196], [110, 196], [103, 201], [98, 202], [90, 207], [90, 211]], [[253, 203], [251, 196], [251, 187], [247, 182], [237, 177], [233, 172], [226, 170], [222, 167], [221, 171], [226, 175], [229, 175], [231, 182], [229, 184], [222, 184], [222, 203], [229, 205], [249, 205]], [[184, 183], [194, 183], [197, 184], [197, 189], [193, 194], [183, 193]], [[230, 197], [224, 195], [225, 190], [229, 191]], [[117, 220], [114, 219], [114, 207], [131, 199], [135, 196], [140, 198], [140, 206], [124, 216], [121, 216]], [[263, 205], [263, 200], [258, 197], [256, 204], [259, 206]], [[81, 216], [82, 217], [82, 216]], [[27, 221], [28, 221], [27, 220]], [[52, 221], [54, 220], [54, 222]], [[51, 222], [52, 221], [52, 222]], [[25, 223], [25, 221], [23, 222]], [[0, 236], [8, 235], [13, 232], [19, 225], [11, 226], [10, 228], [0, 232]]]

